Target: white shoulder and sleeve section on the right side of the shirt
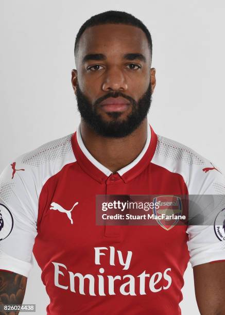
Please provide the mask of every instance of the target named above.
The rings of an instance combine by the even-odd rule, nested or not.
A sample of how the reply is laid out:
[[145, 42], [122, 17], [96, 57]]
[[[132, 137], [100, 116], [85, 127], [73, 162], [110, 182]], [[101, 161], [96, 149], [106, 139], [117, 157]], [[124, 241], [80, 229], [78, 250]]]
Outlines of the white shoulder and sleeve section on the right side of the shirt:
[[[188, 194], [196, 195], [196, 199], [201, 198], [200, 195], [221, 195], [224, 199], [225, 177], [215, 169], [204, 172], [203, 168], [212, 167], [211, 162], [183, 144], [158, 136], [157, 149], [151, 162], [179, 173], [186, 183]], [[221, 209], [212, 207], [212, 218], [215, 219]], [[213, 224], [190, 225], [186, 233], [192, 267], [225, 259], [225, 241], [216, 237]]]

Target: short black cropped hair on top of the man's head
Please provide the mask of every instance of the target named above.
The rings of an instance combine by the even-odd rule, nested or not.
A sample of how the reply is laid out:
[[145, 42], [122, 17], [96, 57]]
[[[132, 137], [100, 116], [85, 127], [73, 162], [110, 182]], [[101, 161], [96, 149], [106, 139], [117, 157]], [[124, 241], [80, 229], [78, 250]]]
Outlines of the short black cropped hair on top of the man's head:
[[81, 35], [85, 31], [85, 29], [92, 26], [103, 25], [103, 24], [125, 24], [125, 25], [132, 25], [132, 26], [141, 28], [147, 37], [148, 46], [150, 50], [150, 56], [152, 58], [151, 34], [149, 30], [147, 29], [147, 27], [144, 25], [144, 23], [130, 13], [127, 13], [124, 11], [112, 11], [112, 10], [93, 15], [90, 17], [89, 20], [83, 23], [83, 25], [80, 27], [77, 33], [76, 40], [75, 40], [75, 46], [74, 46], [75, 56], [78, 50], [79, 40], [81, 38]]

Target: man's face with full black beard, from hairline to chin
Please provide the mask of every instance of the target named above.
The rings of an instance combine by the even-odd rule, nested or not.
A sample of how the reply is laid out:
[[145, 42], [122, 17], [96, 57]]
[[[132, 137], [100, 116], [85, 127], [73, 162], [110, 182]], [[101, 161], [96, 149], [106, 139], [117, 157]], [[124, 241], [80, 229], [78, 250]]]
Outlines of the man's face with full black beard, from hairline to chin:
[[98, 134], [123, 137], [134, 131], [150, 108], [155, 69], [145, 33], [124, 24], [86, 29], [72, 72], [78, 110]]

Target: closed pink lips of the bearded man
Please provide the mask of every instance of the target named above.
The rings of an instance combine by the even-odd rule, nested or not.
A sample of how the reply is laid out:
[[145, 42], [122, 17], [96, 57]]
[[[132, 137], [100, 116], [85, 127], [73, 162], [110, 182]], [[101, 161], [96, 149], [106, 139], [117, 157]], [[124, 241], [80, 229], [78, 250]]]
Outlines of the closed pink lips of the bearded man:
[[130, 103], [123, 97], [109, 97], [100, 103], [100, 106], [105, 112], [125, 112]]

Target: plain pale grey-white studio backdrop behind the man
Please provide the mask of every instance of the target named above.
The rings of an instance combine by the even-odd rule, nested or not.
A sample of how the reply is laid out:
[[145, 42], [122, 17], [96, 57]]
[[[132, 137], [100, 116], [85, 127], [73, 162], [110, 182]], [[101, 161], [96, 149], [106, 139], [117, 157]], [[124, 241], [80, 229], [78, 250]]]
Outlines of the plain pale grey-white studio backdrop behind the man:
[[[154, 131], [225, 173], [222, 0], [1, 0], [0, 171], [17, 156], [75, 131], [75, 35], [91, 15], [106, 10], [132, 13], [151, 32], [157, 86], [148, 117]], [[184, 279], [182, 315], [198, 315], [189, 265]], [[35, 262], [24, 303], [36, 303], [37, 313], [46, 314], [48, 301]]]

